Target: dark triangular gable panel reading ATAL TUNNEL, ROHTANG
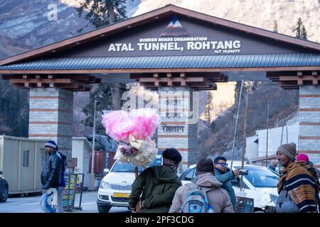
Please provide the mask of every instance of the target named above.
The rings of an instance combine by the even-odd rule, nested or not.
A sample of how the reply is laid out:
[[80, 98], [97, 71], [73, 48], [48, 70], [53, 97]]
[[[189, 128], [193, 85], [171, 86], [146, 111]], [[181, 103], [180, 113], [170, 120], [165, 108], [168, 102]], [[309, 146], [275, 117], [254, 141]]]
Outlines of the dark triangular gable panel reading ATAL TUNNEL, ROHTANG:
[[295, 52], [292, 45], [257, 38], [186, 16], [150, 21], [65, 52], [63, 57], [139, 57], [169, 55], [245, 55]]

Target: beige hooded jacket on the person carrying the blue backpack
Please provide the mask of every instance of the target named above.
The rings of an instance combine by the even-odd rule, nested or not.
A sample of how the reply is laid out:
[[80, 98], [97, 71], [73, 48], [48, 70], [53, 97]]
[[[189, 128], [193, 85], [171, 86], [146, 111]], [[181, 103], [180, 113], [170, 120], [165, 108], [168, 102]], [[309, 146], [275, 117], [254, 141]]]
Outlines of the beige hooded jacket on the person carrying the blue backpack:
[[191, 189], [196, 189], [197, 187], [203, 187], [206, 190], [211, 189], [207, 192], [207, 196], [209, 206], [213, 206], [213, 211], [215, 213], [234, 213], [230, 196], [225, 189], [220, 188], [222, 185], [223, 184], [218, 182], [210, 172], [198, 175], [194, 183], [185, 184], [176, 190], [174, 201], [172, 201], [169, 213], [178, 213], [188, 192], [190, 192]]

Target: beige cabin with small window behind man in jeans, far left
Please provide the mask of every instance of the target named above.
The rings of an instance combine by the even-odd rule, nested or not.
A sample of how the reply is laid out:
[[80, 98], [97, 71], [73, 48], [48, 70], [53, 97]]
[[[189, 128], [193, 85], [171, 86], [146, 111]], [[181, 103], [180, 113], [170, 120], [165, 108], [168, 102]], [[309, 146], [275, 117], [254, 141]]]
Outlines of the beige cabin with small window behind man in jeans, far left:
[[0, 135], [0, 170], [9, 194], [41, 192], [41, 170], [46, 162], [46, 140]]

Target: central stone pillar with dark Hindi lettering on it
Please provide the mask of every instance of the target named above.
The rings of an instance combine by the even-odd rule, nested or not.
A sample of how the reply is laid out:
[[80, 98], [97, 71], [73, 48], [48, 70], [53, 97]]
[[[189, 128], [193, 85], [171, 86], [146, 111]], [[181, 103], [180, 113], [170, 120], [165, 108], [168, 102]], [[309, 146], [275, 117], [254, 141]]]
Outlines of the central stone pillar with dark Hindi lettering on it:
[[158, 148], [176, 148], [183, 170], [196, 164], [198, 146], [198, 92], [182, 87], [159, 87]]

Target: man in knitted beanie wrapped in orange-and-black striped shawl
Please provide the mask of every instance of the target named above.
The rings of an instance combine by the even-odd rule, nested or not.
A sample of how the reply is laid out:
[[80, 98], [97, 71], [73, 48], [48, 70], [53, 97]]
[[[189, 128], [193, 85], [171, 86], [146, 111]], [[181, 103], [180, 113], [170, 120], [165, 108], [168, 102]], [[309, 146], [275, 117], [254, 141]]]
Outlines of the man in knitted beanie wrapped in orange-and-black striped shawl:
[[277, 149], [277, 159], [284, 167], [278, 183], [279, 197], [268, 213], [316, 213], [319, 203], [317, 179], [305, 162], [295, 162], [296, 145], [286, 143]]

